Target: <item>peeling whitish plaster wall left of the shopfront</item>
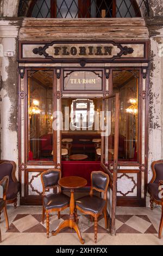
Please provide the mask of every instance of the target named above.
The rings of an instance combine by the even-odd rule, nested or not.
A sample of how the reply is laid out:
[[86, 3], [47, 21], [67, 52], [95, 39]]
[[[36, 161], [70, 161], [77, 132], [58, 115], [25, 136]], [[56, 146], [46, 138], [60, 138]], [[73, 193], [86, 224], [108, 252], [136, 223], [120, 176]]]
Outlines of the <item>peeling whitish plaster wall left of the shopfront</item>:
[[[16, 52], [16, 39], [3, 38], [1, 57], [1, 159], [18, 164], [17, 148], [17, 62], [15, 57], [4, 57], [5, 51]], [[18, 176], [18, 172], [16, 172]]]

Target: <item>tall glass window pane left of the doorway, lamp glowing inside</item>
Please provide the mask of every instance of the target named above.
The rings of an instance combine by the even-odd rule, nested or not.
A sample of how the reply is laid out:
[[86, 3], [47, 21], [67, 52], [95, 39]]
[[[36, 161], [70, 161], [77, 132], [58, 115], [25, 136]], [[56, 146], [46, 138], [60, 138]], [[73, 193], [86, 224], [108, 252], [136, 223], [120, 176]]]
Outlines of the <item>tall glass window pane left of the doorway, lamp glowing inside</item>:
[[52, 161], [53, 71], [28, 71], [28, 161]]

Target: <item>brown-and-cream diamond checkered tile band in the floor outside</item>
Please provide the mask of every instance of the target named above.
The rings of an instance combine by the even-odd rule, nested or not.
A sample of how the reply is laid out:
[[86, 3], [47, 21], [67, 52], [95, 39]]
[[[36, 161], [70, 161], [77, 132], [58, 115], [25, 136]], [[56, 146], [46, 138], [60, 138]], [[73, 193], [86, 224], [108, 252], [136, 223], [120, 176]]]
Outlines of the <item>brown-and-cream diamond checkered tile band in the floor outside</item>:
[[[61, 215], [58, 220], [57, 215], [50, 217], [50, 231], [55, 230], [58, 225], [68, 219], [69, 215]], [[94, 223], [89, 215], [78, 215], [78, 225], [82, 233], [94, 233]], [[46, 233], [46, 220], [42, 224], [41, 214], [17, 214], [10, 224], [7, 232], [11, 233]], [[70, 228], [61, 230], [62, 233], [74, 233]], [[98, 218], [98, 233], [108, 233], [105, 229], [103, 216]], [[123, 234], [157, 234], [154, 225], [147, 215], [116, 215], [116, 233]]]

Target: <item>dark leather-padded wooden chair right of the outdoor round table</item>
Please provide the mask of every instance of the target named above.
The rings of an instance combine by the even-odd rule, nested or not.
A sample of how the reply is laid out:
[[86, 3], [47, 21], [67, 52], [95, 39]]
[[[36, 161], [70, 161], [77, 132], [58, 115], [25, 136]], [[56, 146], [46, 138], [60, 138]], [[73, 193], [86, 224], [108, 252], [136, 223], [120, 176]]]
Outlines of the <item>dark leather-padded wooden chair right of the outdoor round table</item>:
[[[99, 215], [104, 213], [105, 228], [108, 228], [107, 214], [106, 214], [106, 198], [109, 185], [109, 175], [101, 172], [94, 171], [91, 173], [91, 191], [90, 196], [85, 196], [76, 200], [76, 220], [77, 220], [77, 209], [84, 214], [90, 214], [95, 218], [95, 243], [97, 242], [97, 219]], [[103, 192], [104, 197], [99, 198], [93, 196], [93, 190]]]

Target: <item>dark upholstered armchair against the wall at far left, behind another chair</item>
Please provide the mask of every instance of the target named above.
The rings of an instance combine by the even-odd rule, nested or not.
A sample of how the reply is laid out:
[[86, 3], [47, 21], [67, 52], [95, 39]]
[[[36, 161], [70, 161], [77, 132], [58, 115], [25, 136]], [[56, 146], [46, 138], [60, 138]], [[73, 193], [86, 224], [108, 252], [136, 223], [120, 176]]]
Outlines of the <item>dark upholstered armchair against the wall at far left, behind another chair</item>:
[[14, 208], [17, 206], [17, 193], [20, 191], [20, 182], [15, 176], [16, 163], [9, 160], [0, 160], [0, 180], [4, 176], [9, 176], [9, 185], [7, 191], [7, 204], [13, 204]]

